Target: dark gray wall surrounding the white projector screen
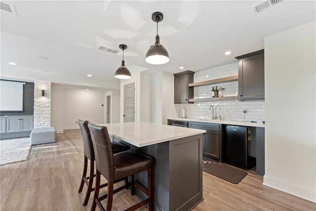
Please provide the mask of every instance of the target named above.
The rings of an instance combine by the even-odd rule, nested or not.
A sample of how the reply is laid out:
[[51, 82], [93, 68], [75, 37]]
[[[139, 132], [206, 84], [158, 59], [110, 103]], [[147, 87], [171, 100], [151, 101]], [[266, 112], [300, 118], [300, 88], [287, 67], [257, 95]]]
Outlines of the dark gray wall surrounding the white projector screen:
[[34, 114], [34, 83], [25, 82], [23, 87], [23, 112], [0, 112], [0, 116], [26, 116]]

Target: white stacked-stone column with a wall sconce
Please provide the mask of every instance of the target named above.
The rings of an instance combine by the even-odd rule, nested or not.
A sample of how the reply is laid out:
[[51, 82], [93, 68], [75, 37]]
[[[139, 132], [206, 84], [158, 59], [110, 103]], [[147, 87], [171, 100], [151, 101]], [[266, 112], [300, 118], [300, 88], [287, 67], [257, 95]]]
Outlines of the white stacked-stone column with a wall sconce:
[[[41, 96], [45, 90], [45, 96]], [[51, 82], [34, 81], [34, 128], [50, 127]]]

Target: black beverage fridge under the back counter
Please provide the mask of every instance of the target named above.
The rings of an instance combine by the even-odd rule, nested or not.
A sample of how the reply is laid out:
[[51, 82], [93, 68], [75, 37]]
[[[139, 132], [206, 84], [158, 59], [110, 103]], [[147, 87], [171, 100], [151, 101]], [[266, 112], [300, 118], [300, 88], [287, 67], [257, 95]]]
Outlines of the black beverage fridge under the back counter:
[[250, 127], [226, 126], [224, 136], [224, 162], [241, 169], [251, 169], [255, 158], [249, 156], [253, 140]]

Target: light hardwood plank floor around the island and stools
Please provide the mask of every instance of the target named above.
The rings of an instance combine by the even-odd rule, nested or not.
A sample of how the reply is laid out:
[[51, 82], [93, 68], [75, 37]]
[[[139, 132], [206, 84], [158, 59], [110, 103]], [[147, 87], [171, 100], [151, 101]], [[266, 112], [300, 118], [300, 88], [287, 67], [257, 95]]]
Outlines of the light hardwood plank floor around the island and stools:
[[[0, 167], [0, 210], [89, 211], [93, 194], [83, 207], [86, 186], [78, 193], [82, 168], [79, 129], [57, 134], [55, 143], [32, 146], [28, 161]], [[315, 203], [264, 186], [262, 178], [252, 173], [232, 184], [203, 172], [203, 198], [195, 211], [316, 211]], [[136, 196], [124, 190], [114, 195], [113, 210], [124, 210], [137, 202]]]

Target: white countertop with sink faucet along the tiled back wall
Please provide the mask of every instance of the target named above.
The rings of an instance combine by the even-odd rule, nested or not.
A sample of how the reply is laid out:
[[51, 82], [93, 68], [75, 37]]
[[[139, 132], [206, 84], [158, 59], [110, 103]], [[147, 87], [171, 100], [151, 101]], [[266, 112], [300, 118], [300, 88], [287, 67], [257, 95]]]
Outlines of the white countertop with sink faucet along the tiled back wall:
[[201, 122], [201, 123], [216, 123], [224, 125], [234, 125], [234, 126], [249, 126], [249, 127], [265, 127], [264, 123], [252, 123], [252, 122], [241, 122], [241, 121], [229, 121], [229, 120], [201, 120], [193, 118], [169, 118], [169, 120], [178, 120], [184, 122]]

